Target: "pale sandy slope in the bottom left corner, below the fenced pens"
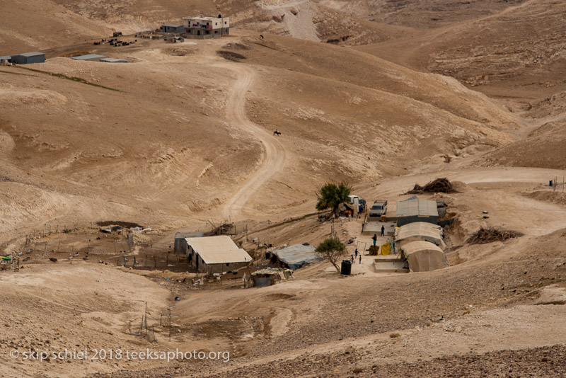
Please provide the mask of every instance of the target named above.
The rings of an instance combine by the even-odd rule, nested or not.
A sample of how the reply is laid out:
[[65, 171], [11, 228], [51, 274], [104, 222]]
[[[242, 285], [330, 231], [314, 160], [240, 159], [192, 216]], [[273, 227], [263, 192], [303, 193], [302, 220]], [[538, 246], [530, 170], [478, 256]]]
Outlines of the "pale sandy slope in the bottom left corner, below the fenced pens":
[[[76, 377], [116, 369], [118, 361], [23, 360], [25, 350], [144, 349], [148, 343], [125, 338], [137, 332], [145, 303], [166, 310], [169, 292], [156, 282], [105, 265], [75, 262], [30, 265], [18, 273], [2, 272], [0, 285], [0, 353], [19, 350], [20, 359], [5, 360], [6, 377]], [[148, 345], [149, 346], [149, 345]], [[151, 346], [149, 346], [151, 348]], [[122, 361], [123, 367], [129, 365]], [[45, 375], [42, 375], [45, 377]]]

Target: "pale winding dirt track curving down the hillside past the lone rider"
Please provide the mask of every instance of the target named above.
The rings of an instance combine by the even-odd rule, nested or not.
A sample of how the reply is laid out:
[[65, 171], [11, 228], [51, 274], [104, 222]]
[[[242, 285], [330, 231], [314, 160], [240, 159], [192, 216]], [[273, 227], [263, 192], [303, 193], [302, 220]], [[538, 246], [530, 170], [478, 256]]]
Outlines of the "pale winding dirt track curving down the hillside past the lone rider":
[[250, 137], [259, 139], [263, 145], [262, 158], [258, 168], [246, 178], [241, 188], [224, 204], [222, 216], [234, 220], [246, 213], [245, 205], [250, 197], [269, 179], [282, 170], [285, 164], [285, 149], [277, 137], [272, 136], [262, 127], [251, 122], [246, 115], [246, 93], [253, 83], [255, 72], [243, 64], [221, 63], [216, 67], [225, 67], [236, 72], [238, 79], [233, 85], [228, 102], [226, 103], [226, 119], [233, 122]]

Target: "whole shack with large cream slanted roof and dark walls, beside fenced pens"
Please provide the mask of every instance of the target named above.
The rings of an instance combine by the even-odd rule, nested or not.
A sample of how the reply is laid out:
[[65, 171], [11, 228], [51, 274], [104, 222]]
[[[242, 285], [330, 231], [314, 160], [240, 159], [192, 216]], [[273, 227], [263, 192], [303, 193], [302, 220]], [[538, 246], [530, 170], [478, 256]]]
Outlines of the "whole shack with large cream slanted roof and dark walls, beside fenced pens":
[[203, 273], [223, 273], [248, 265], [253, 259], [230, 236], [185, 238], [189, 263]]

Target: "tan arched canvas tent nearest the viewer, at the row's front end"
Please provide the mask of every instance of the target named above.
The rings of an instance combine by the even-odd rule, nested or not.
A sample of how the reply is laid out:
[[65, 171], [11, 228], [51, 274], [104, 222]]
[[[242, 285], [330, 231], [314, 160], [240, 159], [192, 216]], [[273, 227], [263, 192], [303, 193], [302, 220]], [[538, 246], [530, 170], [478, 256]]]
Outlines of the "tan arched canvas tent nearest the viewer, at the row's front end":
[[429, 241], [411, 241], [403, 248], [411, 272], [429, 272], [449, 266], [444, 252]]

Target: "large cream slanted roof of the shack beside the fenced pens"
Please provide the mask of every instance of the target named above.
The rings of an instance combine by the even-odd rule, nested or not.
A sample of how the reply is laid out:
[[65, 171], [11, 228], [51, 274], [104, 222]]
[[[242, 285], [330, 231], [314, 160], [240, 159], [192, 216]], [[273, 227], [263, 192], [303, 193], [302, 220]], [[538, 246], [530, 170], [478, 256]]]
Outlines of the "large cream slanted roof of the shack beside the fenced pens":
[[207, 264], [249, 263], [252, 260], [248, 252], [238, 248], [230, 236], [207, 236], [185, 238], [185, 240]]

